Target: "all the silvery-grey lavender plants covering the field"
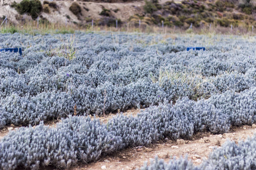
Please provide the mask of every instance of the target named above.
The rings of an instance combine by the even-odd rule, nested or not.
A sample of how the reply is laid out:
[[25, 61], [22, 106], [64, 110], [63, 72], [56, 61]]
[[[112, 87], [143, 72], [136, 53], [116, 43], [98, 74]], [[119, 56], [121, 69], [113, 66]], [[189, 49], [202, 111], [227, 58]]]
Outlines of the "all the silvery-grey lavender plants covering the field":
[[[177, 37], [160, 43], [160, 35], [76, 33], [72, 46], [76, 58], [68, 59], [63, 56], [68, 48], [63, 46], [70, 49], [71, 39], [71, 35], [0, 36], [1, 48], [24, 49], [23, 56], [0, 53], [0, 128], [68, 117], [56, 128], [40, 124], [3, 138], [0, 169], [49, 164], [68, 168], [129, 146], [147, 146], [166, 137], [189, 139], [205, 130], [225, 133], [232, 125], [256, 122], [256, 58], [251, 48], [255, 42], [214, 36], [207, 51], [187, 52], [185, 46], [209, 44], [209, 39]], [[78, 115], [148, 108], [137, 117], [119, 114], [105, 125], [70, 116], [75, 106]], [[250, 140], [255, 143], [255, 138]], [[239, 147], [229, 144], [226, 150], [231, 154], [231, 148]], [[218, 162], [214, 154], [205, 167], [253, 169], [253, 151], [239, 167], [235, 167], [238, 159]], [[158, 167], [198, 168], [183, 159], [157, 161], [151, 169]]]

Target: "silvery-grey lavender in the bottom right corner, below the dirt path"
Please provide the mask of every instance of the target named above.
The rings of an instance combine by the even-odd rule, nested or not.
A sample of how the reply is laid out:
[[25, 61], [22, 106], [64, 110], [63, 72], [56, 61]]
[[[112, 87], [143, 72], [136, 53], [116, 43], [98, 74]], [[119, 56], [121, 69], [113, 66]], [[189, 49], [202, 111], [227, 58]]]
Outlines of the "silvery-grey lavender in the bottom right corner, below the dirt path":
[[193, 165], [187, 158], [170, 159], [168, 163], [157, 157], [155, 161], [147, 165], [144, 164], [141, 170], [177, 170], [177, 169], [195, 169], [195, 170], [221, 170], [221, 169], [256, 169], [256, 134], [240, 141], [236, 144], [234, 141], [225, 142], [220, 148], [214, 148], [209, 154], [209, 158], [204, 160], [199, 166]]

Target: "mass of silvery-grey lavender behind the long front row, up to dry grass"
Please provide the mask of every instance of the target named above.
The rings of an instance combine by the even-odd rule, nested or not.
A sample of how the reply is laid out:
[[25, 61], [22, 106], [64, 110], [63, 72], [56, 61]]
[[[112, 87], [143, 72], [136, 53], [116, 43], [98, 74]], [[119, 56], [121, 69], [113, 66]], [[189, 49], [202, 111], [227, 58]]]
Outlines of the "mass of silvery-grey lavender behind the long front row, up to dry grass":
[[[191, 43], [207, 43], [204, 36], [168, 38], [162, 44], [160, 35], [76, 33], [73, 45], [72, 35], [0, 38], [2, 48], [24, 49], [23, 56], [0, 53], [1, 110], [10, 115], [6, 124], [66, 117], [75, 105], [77, 114], [102, 114], [255, 87], [255, 49], [250, 48], [255, 42], [241, 37], [212, 37], [205, 52], [185, 51]], [[71, 45], [76, 58], [69, 60], [63, 47]]]

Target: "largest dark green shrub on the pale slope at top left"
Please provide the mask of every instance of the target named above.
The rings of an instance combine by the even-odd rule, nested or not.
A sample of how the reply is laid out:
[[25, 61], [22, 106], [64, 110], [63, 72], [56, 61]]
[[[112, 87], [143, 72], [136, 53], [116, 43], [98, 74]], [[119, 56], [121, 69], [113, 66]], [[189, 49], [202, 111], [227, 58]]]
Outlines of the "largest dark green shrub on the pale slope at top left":
[[23, 0], [15, 5], [16, 10], [19, 14], [31, 15], [32, 19], [38, 18], [43, 10], [42, 4], [39, 0]]

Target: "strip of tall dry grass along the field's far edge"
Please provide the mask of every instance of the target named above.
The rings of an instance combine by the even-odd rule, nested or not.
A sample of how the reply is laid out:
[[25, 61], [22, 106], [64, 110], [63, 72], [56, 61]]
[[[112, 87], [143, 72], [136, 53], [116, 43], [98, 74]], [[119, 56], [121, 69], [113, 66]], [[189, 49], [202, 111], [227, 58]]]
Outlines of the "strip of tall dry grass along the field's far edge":
[[[256, 29], [256, 28], [255, 28]], [[21, 25], [15, 25], [13, 23], [9, 23], [7, 25], [3, 24], [0, 27], [0, 33], [30, 33], [35, 35], [40, 33], [42, 35], [46, 33], [74, 33], [75, 31], [80, 32], [138, 32], [138, 33], [150, 33], [150, 34], [162, 34], [163, 36], [170, 36], [174, 34], [191, 34], [191, 35], [249, 35], [255, 36], [256, 31], [254, 33], [251, 29], [237, 27], [233, 28], [226, 28], [220, 26], [213, 26], [211, 28], [205, 26], [201, 28], [193, 28], [191, 30], [185, 30], [179, 27], [158, 27], [157, 25], [147, 25], [146, 27], [138, 28], [132, 24], [122, 24], [121, 27], [107, 27], [101, 26], [94, 23], [94, 26], [91, 27], [91, 24], [60, 24], [60, 23], [49, 23], [46, 20], [39, 20], [39, 24], [37, 20], [28, 20], [26, 22], [22, 22]]]

